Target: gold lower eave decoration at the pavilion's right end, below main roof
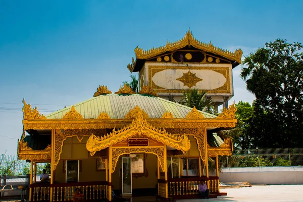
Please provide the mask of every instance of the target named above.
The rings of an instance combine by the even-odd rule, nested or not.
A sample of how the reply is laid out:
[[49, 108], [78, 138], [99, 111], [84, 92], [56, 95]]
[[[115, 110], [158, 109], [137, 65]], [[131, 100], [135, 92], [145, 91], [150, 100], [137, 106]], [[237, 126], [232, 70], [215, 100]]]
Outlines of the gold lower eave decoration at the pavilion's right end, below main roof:
[[220, 147], [210, 147], [208, 145], [208, 156], [232, 156], [233, 143], [231, 138], [226, 138]]

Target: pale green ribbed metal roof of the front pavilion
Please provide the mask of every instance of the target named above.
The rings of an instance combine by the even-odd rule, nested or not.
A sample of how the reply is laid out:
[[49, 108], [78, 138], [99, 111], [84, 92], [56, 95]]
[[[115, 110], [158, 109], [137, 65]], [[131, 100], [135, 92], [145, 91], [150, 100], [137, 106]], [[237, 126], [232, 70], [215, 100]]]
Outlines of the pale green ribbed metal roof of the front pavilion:
[[[171, 102], [159, 97], [151, 97], [140, 94], [133, 95], [100, 95], [90, 98], [84, 102], [75, 104], [74, 107], [83, 118], [97, 118], [100, 112], [105, 111], [111, 118], [124, 118], [129, 110], [138, 105], [148, 114], [150, 118], [161, 118], [162, 115], [169, 111], [174, 118], [185, 118], [188, 112], [192, 110], [190, 107]], [[60, 119], [63, 115], [70, 111], [72, 106], [60, 109], [53, 113], [47, 114], [48, 119]], [[205, 118], [216, 118], [217, 116], [206, 112], [199, 111]]]

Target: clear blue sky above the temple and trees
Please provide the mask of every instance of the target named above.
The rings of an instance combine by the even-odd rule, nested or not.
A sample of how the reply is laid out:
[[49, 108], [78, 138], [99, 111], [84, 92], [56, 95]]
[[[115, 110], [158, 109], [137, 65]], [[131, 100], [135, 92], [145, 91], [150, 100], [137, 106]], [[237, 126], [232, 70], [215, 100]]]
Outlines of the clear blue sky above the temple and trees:
[[[44, 114], [129, 80], [136, 46], [182, 38], [244, 55], [276, 38], [302, 43], [302, 1], [0, 1], [0, 154], [16, 154], [22, 99]], [[233, 70], [234, 100], [254, 96]]]

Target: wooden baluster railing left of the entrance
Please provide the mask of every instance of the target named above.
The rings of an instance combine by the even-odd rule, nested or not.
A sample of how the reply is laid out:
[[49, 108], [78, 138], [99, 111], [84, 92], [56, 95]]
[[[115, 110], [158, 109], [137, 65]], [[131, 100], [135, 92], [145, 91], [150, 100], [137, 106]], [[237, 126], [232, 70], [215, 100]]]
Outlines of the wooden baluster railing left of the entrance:
[[76, 188], [80, 188], [80, 192], [85, 199], [104, 199], [106, 198], [105, 181], [97, 182], [75, 182], [75, 183], [34, 183], [31, 184], [33, 191], [32, 201], [49, 200], [50, 187], [53, 188], [53, 201], [73, 200]]

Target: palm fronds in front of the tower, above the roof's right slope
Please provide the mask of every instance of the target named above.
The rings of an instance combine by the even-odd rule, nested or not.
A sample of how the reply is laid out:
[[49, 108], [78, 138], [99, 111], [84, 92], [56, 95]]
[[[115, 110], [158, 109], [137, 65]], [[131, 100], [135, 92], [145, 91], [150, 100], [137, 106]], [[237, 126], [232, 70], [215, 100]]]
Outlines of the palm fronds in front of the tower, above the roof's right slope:
[[198, 90], [198, 89], [189, 89], [183, 90], [183, 96], [179, 101], [179, 104], [188, 106], [188, 107], [195, 107], [197, 110], [200, 111], [207, 111], [212, 107], [212, 99], [207, 99], [206, 94], [207, 91], [205, 90]]

